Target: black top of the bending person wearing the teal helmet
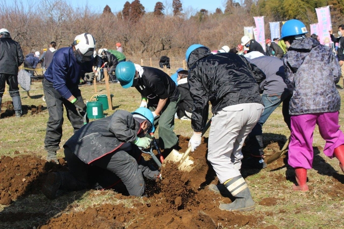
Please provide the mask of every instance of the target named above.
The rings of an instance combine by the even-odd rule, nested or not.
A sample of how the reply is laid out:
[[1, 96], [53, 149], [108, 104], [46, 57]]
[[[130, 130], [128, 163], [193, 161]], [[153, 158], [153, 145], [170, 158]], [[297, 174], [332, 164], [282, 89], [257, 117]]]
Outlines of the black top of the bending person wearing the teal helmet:
[[169, 98], [171, 102], [177, 101], [179, 91], [169, 75], [158, 68], [142, 67], [143, 74], [135, 88], [143, 97], [154, 100]]

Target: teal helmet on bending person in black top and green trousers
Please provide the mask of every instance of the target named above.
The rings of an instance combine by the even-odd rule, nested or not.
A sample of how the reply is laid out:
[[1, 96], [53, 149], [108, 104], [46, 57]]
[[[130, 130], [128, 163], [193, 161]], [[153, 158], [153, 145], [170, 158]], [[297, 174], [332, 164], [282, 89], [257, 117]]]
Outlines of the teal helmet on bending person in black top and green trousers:
[[133, 85], [136, 68], [133, 62], [123, 61], [117, 64], [115, 74], [123, 88], [128, 88]]

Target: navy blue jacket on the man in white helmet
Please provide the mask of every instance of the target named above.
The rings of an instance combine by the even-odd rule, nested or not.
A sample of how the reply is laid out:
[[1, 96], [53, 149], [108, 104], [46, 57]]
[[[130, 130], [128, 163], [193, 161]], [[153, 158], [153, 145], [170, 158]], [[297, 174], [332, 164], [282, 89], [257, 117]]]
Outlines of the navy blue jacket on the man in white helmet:
[[61, 48], [56, 51], [44, 77], [53, 83], [63, 98], [68, 99], [72, 96], [70, 89], [79, 85], [80, 77], [86, 72], [92, 72], [92, 64], [93, 57], [81, 64], [77, 62], [72, 47]]

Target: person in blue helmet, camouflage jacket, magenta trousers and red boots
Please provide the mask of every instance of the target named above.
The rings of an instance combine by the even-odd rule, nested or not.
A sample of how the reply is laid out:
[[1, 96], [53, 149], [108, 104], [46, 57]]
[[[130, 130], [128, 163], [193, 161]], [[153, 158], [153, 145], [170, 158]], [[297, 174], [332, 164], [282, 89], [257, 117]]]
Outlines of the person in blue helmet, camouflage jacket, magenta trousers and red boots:
[[324, 154], [336, 157], [344, 172], [344, 135], [339, 129], [341, 96], [337, 90], [341, 69], [331, 48], [309, 37], [305, 24], [289, 20], [282, 26], [287, 45], [284, 58], [286, 84], [292, 94], [289, 103], [291, 133], [288, 164], [295, 169], [294, 191], [308, 191], [307, 170], [313, 163], [315, 124], [326, 141]]

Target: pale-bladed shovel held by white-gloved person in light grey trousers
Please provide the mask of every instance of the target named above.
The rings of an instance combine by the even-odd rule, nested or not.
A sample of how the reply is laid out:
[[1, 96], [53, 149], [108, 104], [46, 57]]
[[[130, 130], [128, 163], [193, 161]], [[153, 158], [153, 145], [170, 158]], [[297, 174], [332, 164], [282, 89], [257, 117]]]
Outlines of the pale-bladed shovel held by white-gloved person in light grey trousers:
[[[208, 130], [210, 123], [211, 123], [211, 118], [205, 124], [202, 131], [202, 136]], [[169, 161], [172, 163], [179, 162], [178, 170], [190, 172], [195, 167], [193, 166], [194, 161], [189, 157], [190, 152], [191, 152], [191, 146], [188, 147], [185, 153], [181, 153], [178, 150], [173, 149], [172, 152], [165, 158], [164, 162], [166, 161]]]

